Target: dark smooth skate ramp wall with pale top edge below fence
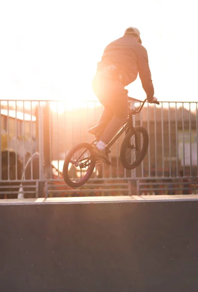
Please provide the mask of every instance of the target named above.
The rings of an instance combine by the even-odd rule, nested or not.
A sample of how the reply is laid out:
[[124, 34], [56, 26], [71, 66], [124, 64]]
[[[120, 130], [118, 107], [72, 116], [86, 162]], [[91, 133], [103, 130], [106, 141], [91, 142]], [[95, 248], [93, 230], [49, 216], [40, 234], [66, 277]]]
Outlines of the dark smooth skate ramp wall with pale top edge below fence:
[[2, 200], [0, 291], [197, 292], [197, 197]]

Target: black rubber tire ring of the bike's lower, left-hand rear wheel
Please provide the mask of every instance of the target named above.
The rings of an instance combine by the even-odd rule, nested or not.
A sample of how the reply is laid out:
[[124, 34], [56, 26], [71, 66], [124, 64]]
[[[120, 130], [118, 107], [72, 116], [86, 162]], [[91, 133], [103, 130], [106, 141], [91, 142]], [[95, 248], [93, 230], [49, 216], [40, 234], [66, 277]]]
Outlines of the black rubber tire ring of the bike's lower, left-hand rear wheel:
[[86, 171], [85, 176], [82, 178], [82, 180], [75, 182], [72, 181], [71, 178], [69, 177], [69, 164], [71, 163], [71, 159], [74, 156], [74, 154], [80, 150], [80, 149], [87, 149], [89, 152], [91, 152], [93, 146], [91, 146], [89, 143], [79, 143], [76, 146], [74, 146], [67, 154], [65, 162], [64, 162], [64, 166], [63, 166], [63, 178], [66, 184], [68, 184], [71, 187], [80, 187], [82, 186], [84, 183], [86, 183], [88, 181], [88, 179], [91, 177], [93, 171], [94, 171], [94, 167], [96, 164], [96, 161], [94, 159], [90, 158], [90, 165], [88, 166], [88, 169]]

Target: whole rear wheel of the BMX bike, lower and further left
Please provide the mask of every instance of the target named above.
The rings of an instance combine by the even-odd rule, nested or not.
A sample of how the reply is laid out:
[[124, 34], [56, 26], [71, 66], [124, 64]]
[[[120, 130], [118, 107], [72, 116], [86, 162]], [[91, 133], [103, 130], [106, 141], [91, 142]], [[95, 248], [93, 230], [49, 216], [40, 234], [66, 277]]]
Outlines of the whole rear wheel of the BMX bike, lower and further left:
[[79, 187], [91, 177], [96, 164], [91, 157], [92, 146], [89, 143], [79, 143], [66, 156], [63, 166], [63, 178], [71, 187]]

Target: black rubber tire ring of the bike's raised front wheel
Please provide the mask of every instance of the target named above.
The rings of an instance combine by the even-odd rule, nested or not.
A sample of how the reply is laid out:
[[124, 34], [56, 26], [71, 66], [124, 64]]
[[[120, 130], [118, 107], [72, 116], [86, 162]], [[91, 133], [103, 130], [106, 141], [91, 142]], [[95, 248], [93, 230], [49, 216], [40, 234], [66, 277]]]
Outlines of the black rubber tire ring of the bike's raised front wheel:
[[[126, 134], [126, 136], [122, 142], [121, 148], [120, 148], [120, 161], [121, 161], [121, 164], [126, 169], [136, 168], [143, 161], [143, 159], [147, 153], [147, 149], [148, 149], [148, 132], [147, 132], [146, 128], [144, 128], [142, 126], [136, 126], [135, 130], [136, 130], [137, 134], [138, 133], [142, 134], [143, 145], [142, 145], [142, 148], [141, 148], [141, 151], [140, 151], [140, 154], [139, 154], [137, 161], [134, 161], [134, 163], [129, 164], [129, 162], [127, 162], [127, 158], [126, 158], [126, 151], [127, 151], [127, 148], [129, 149], [130, 140], [131, 140], [132, 136], [135, 134], [135, 132], [134, 132], [134, 130], [131, 129]], [[132, 145], [130, 145], [130, 146], [132, 146]], [[134, 151], [135, 151], [135, 148], [134, 148]]]

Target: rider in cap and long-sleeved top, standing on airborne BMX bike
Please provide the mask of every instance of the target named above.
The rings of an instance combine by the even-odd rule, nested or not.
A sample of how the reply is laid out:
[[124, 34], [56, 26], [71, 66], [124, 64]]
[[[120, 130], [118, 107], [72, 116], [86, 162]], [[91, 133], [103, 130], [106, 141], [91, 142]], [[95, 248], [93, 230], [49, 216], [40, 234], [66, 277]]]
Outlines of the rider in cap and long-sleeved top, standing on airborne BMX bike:
[[153, 96], [147, 50], [142, 46], [139, 30], [129, 27], [123, 37], [105, 48], [92, 83], [94, 93], [104, 106], [99, 127], [89, 131], [92, 134], [98, 134], [98, 131], [100, 138], [92, 154], [97, 159], [104, 160], [106, 164], [110, 165], [111, 162], [104, 151], [105, 145], [111, 141], [128, 117], [128, 91], [125, 86], [132, 83], [138, 73], [148, 102], [156, 101]]

